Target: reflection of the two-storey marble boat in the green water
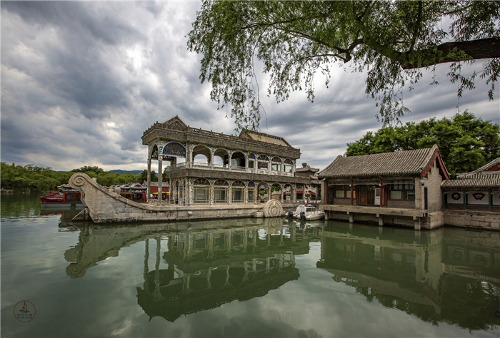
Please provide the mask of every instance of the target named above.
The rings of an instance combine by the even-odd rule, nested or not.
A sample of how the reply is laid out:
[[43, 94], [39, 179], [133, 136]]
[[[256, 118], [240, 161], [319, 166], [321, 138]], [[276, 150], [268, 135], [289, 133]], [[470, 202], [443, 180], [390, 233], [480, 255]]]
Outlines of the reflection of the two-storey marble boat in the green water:
[[[66, 251], [66, 260], [73, 262], [66, 273], [84, 277], [90, 267], [117, 256], [121, 247], [144, 242], [144, 285], [137, 287], [138, 303], [150, 318], [173, 322], [182, 314], [261, 297], [297, 280], [296, 255], [307, 254], [311, 240], [319, 241], [320, 227], [300, 229], [296, 222], [284, 227], [288, 221], [274, 218], [228, 228], [234, 222], [204, 222], [204, 227], [215, 227], [210, 230], [186, 223], [180, 232], [171, 231], [169, 225], [91, 225], [82, 230], [79, 245]], [[150, 252], [151, 242], [156, 252]], [[149, 266], [150, 255], [155, 256], [154, 267]], [[166, 269], [160, 269], [162, 259]]]

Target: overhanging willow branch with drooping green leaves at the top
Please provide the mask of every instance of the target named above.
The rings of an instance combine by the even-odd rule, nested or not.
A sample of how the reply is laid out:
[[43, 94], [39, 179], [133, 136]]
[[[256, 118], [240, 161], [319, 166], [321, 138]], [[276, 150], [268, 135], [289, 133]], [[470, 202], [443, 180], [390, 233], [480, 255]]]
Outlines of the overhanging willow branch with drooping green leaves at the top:
[[[449, 24], [449, 27], [446, 27]], [[499, 1], [214, 1], [204, 0], [188, 48], [201, 53], [201, 82], [211, 99], [231, 107], [237, 128], [259, 126], [261, 101], [255, 59], [269, 73], [277, 101], [305, 90], [314, 100], [314, 76], [328, 86], [331, 66], [366, 71], [366, 93], [379, 118], [391, 123], [408, 110], [402, 89], [422, 69], [450, 63], [458, 95], [477, 76], [490, 86], [500, 72]], [[464, 63], [484, 59], [483, 71], [464, 76]], [[435, 78], [433, 84], [437, 84]]]

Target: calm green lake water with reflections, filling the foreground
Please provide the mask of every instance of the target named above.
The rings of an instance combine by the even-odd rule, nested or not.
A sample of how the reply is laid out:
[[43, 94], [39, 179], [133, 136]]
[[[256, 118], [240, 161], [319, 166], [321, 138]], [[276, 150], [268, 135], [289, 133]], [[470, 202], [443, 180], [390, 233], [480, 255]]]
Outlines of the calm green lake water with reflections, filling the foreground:
[[1, 196], [2, 337], [499, 337], [500, 232], [73, 215]]

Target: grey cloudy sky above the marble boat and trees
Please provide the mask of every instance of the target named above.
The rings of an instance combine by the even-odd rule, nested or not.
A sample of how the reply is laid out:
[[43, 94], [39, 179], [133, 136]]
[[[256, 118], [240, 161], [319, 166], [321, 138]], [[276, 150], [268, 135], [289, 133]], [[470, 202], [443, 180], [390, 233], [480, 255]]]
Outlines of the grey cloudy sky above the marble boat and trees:
[[[210, 101], [209, 83], [199, 81], [201, 56], [186, 49], [199, 1], [0, 6], [1, 161], [54, 170], [142, 170], [141, 135], [155, 121], [178, 115], [196, 128], [234, 133], [234, 121]], [[450, 117], [468, 108], [500, 123], [500, 86], [495, 101], [488, 101], [481, 81], [458, 101], [448, 71], [446, 65], [437, 68], [439, 86], [429, 86], [427, 74], [405, 93], [412, 113], [402, 121]], [[259, 81], [265, 84], [266, 76]], [[266, 98], [261, 131], [300, 148], [299, 163], [324, 168], [346, 143], [381, 127], [364, 81], [364, 74], [338, 68], [329, 88], [321, 79], [316, 83], [314, 103], [300, 92], [279, 104]]]

